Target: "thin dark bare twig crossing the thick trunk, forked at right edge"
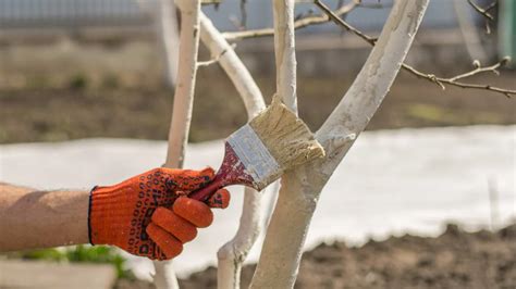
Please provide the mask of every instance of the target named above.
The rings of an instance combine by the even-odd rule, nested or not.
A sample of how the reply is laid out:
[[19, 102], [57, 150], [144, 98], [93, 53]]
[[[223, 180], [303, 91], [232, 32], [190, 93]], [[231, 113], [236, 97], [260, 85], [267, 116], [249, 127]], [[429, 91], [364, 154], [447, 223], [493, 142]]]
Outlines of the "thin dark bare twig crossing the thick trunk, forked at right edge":
[[[369, 45], [374, 46], [374, 43], [376, 43], [374, 38], [371, 38], [370, 36], [361, 33], [360, 30], [358, 30], [357, 28], [355, 28], [354, 26], [352, 26], [351, 24], [348, 24], [347, 22], [342, 20], [331, 9], [329, 9], [327, 5], [324, 5], [320, 0], [315, 0], [314, 3], [317, 7], [319, 7], [324, 13], [327, 13], [328, 16], [330, 16], [333, 20], [334, 23], [343, 26], [347, 30], [349, 30], [353, 34], [355, 34], [356, 36], [360, 37], [361, 39], [367, 41]], [[445, 84], [446, 84], [446, 85], [452, 85], [452, 86], [462, 87], [462, 88], [490, 90], [490, 91], [493, 91], [493, 92], [496, 92], [496, 93], [502, 93], [502, 95], [506, 96], [507, 98], [509, 98], [512, 96], [516, 96], [516, 90], [494, 87], [494, 86], [491, 86], [491, 85], [478, 85], [478, 84], [468, 84], [468, 83], [457, 81], [459, 79], [464, 79], [466, 77], [470, 77], [470, 76], [474, 76], [474, 75], [477, 75], [477, 74], [480, 74], [480, 73], [484, 73], [484, 72], [497, 73], [497, 68], [506, 65], [509, 61], [511, 61], [509, 58], [504, 58], [500, 62], [497, 62], [493, 65], [490, 65], [490, 66], [484, 66], [484, 67], [481, 67], [480, 64], [478, 64], [478, 65], [476, 65], [475, 70], [472, 70], [470, 72], [466, 72], [464, 74], [459, 74], [459, 75], [454, 76], [454, 77], [450, 77], [450, 78], [439, 77], [439, 76], [435, 76], [433, 74], [422, 73], [422, 72], [414, 68], [413, 66], [410, 66], [406, 63], [403, 63], [402, 67], [405, 71], [407, 71], [407, 72], [409, 72], [409, 73], [411, 73], [411, 74], [414, 74], [414, 75], [416, 75], [420, 78], [428, 79], [428, 80], [439, 85], [442, 89], [446, 88], [445, 87]]]

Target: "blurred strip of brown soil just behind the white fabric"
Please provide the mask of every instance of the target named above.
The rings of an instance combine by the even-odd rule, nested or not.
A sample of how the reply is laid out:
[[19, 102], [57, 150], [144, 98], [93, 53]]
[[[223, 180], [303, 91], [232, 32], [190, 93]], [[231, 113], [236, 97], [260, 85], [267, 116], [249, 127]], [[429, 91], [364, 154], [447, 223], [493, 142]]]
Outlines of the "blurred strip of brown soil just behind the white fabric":
[[[339, 103], [353, 77], [298, 79], [300, 116], [317, 129]], [[516, 73], [472, 79], [515, 89]], [[258, 77], [263, 93], [273, 78]], [[224, 138], [246, 122], [244, 105], [218, 67], [197, 79], [189, 139]], [[173, 92], [163, 88], [89, 88], [71, 79], [67, 88], [0, 88], [0, 143], [61, 141], [89, 137], [165, 139]], [[516, 102], [484, 90], [449, 88], [402, 73], [368, 129], [474, 124], [515, 124]]]

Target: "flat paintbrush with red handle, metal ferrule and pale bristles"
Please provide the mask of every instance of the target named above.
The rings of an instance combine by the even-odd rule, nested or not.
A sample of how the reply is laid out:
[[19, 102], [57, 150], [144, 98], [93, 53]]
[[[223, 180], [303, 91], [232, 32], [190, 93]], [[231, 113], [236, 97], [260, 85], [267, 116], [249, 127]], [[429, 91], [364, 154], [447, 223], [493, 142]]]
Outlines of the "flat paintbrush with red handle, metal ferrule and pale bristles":
[[189, 197], [206, 201], [230, 185], [260, 191], [286, 169], [322, 156], [324, 150], [308, 126], [274, 97], [269, 108], [225, 140], [224, 159], [216, 177]]

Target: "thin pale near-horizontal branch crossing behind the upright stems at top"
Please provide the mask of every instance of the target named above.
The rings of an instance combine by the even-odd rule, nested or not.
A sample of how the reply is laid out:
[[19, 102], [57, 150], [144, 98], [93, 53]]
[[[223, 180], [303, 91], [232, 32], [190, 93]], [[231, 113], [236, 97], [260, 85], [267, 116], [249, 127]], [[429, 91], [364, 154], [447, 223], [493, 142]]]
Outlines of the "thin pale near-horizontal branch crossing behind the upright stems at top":
[[[341, 7], [340, 9], [335, 10], [334, 13], [339, 16], [349, 13], [360, 3], [359, 1], [352, 1], [348, 4]], [[310, 25], [316, 24], [323, 24], [330, 22], [331, 18], [325, 15], [308, 15], [300, 17], [294, 22], [295, 29], [300, 29]], [[262, 29], [253, 29], [253, 30], [245, 30], [245, 32], [232, 32], [232, 33], [223, 33], [222, 34], [226, 40], [237, 40], [237, 39], [246, 39], [246, 38], [256, 38], [256, 37], [266, 37], [266, 36], [273, 36], [274, 29], [273, 28], [262, 28]]]

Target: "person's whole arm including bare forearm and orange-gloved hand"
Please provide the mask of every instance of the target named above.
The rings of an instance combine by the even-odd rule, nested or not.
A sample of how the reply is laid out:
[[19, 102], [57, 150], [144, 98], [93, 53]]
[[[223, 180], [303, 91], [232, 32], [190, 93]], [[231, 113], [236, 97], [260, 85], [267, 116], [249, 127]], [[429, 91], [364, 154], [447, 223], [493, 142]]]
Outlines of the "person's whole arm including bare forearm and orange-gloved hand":
[[229, 192], [208, 205], [186, 196], [213, 178], [213, 169], [155, 168], [88, 191], [37, 191], [1, 185], [0, 251], [113, 244], [136, 255], [172, 259], [197, 228], [211, 224], [210, 208], [225, 208]]

